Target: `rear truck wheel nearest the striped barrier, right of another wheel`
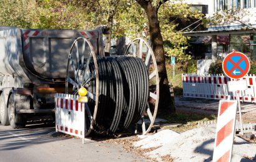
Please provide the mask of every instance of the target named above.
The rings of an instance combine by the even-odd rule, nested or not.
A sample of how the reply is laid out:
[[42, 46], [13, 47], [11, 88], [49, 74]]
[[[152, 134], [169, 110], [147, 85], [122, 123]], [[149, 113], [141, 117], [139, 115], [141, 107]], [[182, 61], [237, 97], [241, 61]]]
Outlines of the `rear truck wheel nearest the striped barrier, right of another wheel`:
[[25, 115], [16, 113], [13, 93], [10, 95], [10, 98], [9, 98], [8, 114], [9, 114], [9, 121], [12, 128], [14, 129], [24, 128], [26, 126]]

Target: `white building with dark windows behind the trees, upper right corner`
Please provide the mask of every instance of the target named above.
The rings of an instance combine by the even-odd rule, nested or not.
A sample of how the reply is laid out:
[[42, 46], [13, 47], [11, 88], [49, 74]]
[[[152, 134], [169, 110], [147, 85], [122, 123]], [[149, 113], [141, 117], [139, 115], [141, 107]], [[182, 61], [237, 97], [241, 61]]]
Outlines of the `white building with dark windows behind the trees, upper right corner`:
[[[256, 0], [208, 0], [185, 1], [193, 6], [207, 6], [207, 17], [222, 13], [223, 21], [219, 25], [208, 26], [205, 31], [185, 32], [192, 37], [187, 54], [200, 52], [199, 59], [223, 59], [225, 55], [236, 50], [256, 60]], [[224, 21], [227, 14], [223, 11], [234, 9], [237, 21]], [[226, 17], [225, 17], [226, 16]], [[231, 17], [231, 18], [232, 18]], [[200, 50], [196, 50], [200, 47]]]

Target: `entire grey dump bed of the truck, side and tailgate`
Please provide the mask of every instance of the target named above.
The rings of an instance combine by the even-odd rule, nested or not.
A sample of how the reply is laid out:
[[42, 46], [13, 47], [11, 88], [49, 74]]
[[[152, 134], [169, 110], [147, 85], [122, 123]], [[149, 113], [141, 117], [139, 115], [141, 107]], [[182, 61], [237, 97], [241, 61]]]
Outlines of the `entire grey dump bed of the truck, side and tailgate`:
[[86, 37], [96, 55], [104, 55], [101, 28], [82, 31], [0, 27], [0, 75], [20, 77], [23, 83], [64, 81], [69, 50], [77, 37]]

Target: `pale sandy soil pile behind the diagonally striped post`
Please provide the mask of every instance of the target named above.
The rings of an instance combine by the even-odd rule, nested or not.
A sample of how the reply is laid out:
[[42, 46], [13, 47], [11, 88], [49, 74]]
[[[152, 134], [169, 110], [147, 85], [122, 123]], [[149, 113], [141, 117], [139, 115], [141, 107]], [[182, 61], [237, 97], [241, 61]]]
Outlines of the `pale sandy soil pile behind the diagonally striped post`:
[[[146, 153], [150, 158], [169, 155], [175, 161], [212, 161], [215, 128], [200, 127], [176, 133], [163, 130], [134, 143], [140, 148], [159, 147]], [[235, 136], [232, 161], [247, 161], [256, 157], [256, 145]]]

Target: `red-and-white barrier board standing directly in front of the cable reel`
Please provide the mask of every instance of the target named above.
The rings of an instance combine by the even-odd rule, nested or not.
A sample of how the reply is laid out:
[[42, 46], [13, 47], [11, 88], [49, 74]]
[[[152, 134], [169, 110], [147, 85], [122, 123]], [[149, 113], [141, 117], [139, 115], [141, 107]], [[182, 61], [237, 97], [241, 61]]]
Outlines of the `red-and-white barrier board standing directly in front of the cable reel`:
[[56, 93], [56, 132], [83, 138], [85, 133], [85, 104], [78, 96]]

